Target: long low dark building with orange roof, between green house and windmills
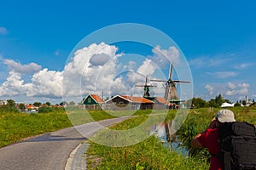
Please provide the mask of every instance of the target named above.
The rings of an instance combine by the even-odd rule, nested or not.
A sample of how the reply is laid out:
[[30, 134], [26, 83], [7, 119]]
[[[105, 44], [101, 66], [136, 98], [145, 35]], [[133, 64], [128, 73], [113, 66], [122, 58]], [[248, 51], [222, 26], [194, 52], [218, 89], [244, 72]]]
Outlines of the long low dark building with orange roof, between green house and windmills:
[[153, 109], [154, 101], [136, 96], [116, 95], [106, 101], [110, 110], [147, 110]]

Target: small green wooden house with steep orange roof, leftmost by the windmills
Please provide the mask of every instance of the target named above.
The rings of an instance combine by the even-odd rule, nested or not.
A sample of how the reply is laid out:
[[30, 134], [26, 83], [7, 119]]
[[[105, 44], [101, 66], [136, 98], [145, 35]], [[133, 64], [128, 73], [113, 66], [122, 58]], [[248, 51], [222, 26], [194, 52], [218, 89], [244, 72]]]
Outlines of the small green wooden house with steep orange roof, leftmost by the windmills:
[[104, 104], [103, 99], [96, 94], [89, 94], [83, 99], [82, 103], [85, 105], [86, 109], [89, 110], [101, 110]]

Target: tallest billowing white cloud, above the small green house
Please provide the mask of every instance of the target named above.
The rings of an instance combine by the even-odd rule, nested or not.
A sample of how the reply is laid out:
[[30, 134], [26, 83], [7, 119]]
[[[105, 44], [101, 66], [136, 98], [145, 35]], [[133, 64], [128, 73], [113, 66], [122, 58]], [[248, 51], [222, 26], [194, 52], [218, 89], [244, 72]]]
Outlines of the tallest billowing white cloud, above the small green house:
[[125, 91], [123, 77], [119, 75], [116, 54], [118, 48], [104, 42], [93, 43], [79, 49], [63, 72], [63, 92], [65, 96], [91, 93], [109, 94]]

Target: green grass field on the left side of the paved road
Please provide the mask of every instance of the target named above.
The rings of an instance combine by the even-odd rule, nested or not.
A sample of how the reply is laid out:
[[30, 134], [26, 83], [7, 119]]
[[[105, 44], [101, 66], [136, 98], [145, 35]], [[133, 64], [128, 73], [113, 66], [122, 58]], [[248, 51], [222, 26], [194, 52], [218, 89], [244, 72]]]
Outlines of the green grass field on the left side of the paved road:
[[26, 114], [0, 107], [0, 147], [41, 133], [113, 117], [104, 111], [90, 111], [86, 115], [84, 110], [55, 109], [49, 113]]

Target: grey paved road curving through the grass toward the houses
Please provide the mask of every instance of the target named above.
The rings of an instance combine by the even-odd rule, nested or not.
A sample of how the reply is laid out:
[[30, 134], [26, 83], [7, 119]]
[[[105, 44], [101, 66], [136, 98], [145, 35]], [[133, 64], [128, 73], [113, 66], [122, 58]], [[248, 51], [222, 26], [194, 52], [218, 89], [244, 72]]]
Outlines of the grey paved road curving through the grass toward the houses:
[[[53, 133], [45, 133], [17, 144], [0, 149], [0, 170], [63, 170], [67, 158], [84, 139], [102, 127], [121, 122], [128, 117], [119, 117], [80, 125], [84, 136], [75, 127], [68, 127]], [[85, 133], [86, 132], [86, 133]], [[84, 138], [86, 137], [86, 138]]]

